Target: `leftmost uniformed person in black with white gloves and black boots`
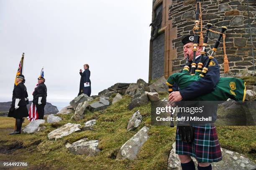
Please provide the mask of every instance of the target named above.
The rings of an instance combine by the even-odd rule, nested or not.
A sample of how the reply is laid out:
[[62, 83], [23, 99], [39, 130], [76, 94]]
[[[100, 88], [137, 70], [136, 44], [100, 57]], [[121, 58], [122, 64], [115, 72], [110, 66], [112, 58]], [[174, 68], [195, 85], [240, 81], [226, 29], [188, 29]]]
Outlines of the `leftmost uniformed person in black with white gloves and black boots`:
[[18, 85], [13, 89], [12, 104], [8, 113], [8, 117], [14, 117], [16, 119], [16, 128], [13, 133], [10, 133], [10, 135], [21, 133], [23, 117], [28, 116], [28, 108], [26, 106], [28, 104], [28, 92], [24, 85], [24, 75], [18, 75], [16, 77], [16, 83], [18, 83]]

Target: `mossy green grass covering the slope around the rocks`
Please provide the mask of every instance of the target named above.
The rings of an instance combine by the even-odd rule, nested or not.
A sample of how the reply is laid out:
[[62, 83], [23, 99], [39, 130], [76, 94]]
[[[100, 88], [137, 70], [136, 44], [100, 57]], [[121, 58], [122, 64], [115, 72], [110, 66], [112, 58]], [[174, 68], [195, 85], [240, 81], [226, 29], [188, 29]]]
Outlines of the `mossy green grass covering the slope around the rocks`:
[[[160, 93], [160, 98], [168, 96], [168, 93]], [[113, 98], [113, 96], [110, 96]], [[60, 115], [62, 121], [58, 123], [44, 123], [46, 130], [35, 134], [8, 135], [13, 130], [14, 119], [0, 117], [0, 148], [8, 148], [19, 143], [22, 148], [11, 153], [0, 152], [0, 160], [28, 162], [28, 169], [51, 170], [166, 170], [169, 152], [175, 141], [176, 128], [151, 125], [151, 105], [148, 103], [142, 107], [128, 110], [131, 101], [128, 95], [111, 105], [102, 112], [85, 113], [85, 118], [79, 122], [70, 120], [71, 114]], [[143, 122], [134, 131], [127, 132], [129, 118], [134, 112], [140, 110]], [[91, 119], [97, 119], [93, 131], [72, 133], [59, 140], [48, 140], [47, 134], [67, 122], [79, 123]], [[28, 121], [26, 121], [26, 124]], [[144, 125], [150, 128], [150, 138], [144, 143], [136, 160], [116, 160], [115, 156], [121, 146], [135, 135]], [[24, 126], [23, 126], [24, 127]], [[255, 127], [220, 126], [217, 127], [220, 145], [223, 148], [243, 153], [256, 161], [256, 134]], [[102, 150], [97, 156], [74, 155], [65, 148], [66, 143], [73, 143], [79, 139], [99, 140], [99, 148]], [[15, 156], [14, 156], [15, 155]]]

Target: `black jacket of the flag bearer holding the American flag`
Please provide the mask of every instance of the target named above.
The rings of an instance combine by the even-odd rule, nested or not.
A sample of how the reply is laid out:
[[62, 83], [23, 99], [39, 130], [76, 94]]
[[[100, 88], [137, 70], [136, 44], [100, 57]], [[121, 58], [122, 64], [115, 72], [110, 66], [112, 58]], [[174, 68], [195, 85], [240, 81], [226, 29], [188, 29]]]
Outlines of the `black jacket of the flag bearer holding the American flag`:
[[47, 88], [44, 82], [40, 83], [33, 92], [33, 103], [38, 104], [38, 97], [42, 97], [41, 103], [46, 104]]

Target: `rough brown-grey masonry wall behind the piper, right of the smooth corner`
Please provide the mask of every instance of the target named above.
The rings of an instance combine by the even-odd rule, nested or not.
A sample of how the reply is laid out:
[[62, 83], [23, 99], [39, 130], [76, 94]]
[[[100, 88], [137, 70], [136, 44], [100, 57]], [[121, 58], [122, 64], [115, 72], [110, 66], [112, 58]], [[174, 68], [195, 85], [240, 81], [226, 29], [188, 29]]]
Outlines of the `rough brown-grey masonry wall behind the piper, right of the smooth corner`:
[[[251, 52], [250, 30], [248, 15], [250, 16], [253, 50], [256, 50], [256, 1], [248, 0], [249, 13], [247, 12], [247, 0], [202, 0], [203, 30], [207, 23], [212, 23], [212, 30], [220, 31], [221, 26], [228, 27], [226, 31], [226, 52], [231, 72], [240, 70], [253, 70], [253, 57]], [[172, 0], [169, 6], [169, 20], [172, 28], [177, 29], [172, 39], [172, 48], [176, 50], [177, 57], [172, 60], [172, 72], [181, 69], [183, 64], [182, 35], [192, 34], [195, 24], [195, 0]], [[171, 29], [171, 28], [170, 28]], [[210, 33], [208, 44], [212, 45], [218, 38], [218, 34]], [[208, 46], [207, 48], [210, 51]], [[254, 57], [256, 53], [254, 51]], [[223, 72], [223, 44], [221, 43], [215, 56]]]

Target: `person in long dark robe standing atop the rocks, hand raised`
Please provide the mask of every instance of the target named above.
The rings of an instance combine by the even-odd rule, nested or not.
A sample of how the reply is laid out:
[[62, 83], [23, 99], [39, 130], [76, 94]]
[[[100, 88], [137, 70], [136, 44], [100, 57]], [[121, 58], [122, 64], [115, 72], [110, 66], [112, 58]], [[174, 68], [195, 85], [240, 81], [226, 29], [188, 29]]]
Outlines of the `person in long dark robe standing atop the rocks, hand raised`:
[[[91, 72], [89, 70], [89, 65], [85, 64], [84, 72], [82, 72], [82, 69], [80, 69], [79, 74], [81, 75], [81, 79], [80, 79], [80, 87], [79, 87], [78, 95], [81, 95], [82, 93], [84, 93], [90, 96], [91, 95], [91, 80], [90, 80]], [[84, 87], [85, 85], [90, 85], [90, 86]]]

